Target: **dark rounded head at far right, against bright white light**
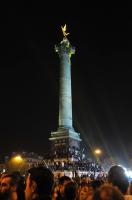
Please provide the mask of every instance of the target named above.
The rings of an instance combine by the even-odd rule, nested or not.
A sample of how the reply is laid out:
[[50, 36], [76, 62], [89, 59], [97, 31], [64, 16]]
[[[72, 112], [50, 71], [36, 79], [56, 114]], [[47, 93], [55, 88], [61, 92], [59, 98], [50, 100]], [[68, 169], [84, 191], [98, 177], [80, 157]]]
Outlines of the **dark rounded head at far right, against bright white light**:
[[127, 194], [129, 181], [122, 167], [114, 166], [110, 169], [108, 172], [108, 182], [117, 186], [124, 195]]

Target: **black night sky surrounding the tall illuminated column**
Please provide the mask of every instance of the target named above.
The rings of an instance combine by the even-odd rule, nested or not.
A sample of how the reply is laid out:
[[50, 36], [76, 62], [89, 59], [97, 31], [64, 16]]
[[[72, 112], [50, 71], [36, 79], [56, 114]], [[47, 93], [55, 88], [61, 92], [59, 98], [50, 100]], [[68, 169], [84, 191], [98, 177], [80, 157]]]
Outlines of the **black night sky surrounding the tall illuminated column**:
[[32, 4], [5, 9], [1, 24], [0, 152], [40, 154], [58, 128], [59, 57], [67, 24], [74, 128], [86, 149], [132, 155], [132, 18], [128, 8]]

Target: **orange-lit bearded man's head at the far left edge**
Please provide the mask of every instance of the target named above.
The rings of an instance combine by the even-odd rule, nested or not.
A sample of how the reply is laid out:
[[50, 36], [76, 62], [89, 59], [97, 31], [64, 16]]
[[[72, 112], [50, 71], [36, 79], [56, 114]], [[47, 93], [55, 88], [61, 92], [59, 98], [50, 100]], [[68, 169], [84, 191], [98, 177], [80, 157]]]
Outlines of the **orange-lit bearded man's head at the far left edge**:
[[1, 179], [1, 199], [17, 199], [17, 179], [13, 174], [6, 174]]

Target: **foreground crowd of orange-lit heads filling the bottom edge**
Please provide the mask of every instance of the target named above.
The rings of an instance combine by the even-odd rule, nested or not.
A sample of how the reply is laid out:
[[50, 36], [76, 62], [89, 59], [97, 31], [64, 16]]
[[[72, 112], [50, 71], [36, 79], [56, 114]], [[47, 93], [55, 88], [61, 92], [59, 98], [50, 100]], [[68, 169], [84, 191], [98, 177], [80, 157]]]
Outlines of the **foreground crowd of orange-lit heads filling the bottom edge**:
[[55, 179], [51, 169], [38, 166], [27, 171], [1, 174], [0, 200], [131, 200], [132, 185], [120, 166], [110, 168], [107, 177]]

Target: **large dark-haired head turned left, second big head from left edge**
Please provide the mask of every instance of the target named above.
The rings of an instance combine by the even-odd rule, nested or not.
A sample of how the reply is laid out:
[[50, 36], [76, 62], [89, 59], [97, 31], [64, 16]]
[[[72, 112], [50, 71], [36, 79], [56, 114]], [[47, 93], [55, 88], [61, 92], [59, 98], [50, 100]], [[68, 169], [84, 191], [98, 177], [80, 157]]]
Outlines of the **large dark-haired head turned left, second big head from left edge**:
[[25, 199], [51, 199], [54, 175], [46, 167], [33, 167], [26, 177]]

